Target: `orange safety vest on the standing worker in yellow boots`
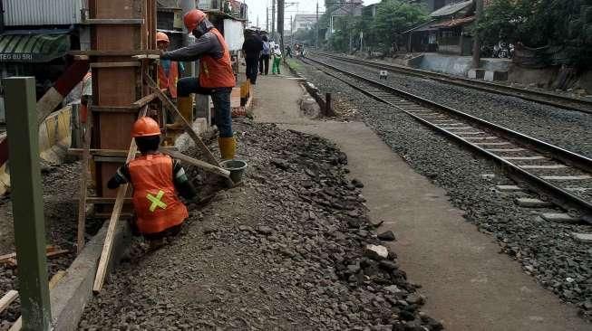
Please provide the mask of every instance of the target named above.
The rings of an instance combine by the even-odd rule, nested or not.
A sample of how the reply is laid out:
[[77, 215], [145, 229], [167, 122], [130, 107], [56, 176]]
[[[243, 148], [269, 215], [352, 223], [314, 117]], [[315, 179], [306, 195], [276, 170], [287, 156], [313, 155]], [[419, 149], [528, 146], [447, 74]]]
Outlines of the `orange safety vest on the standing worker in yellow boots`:
[[218, 37], [218, 42], [222, 45], [224, 55], [219, 59], [214, 59], [210, 55], [203, 56], [199, 61], [199, 85], [202, 88], [234, 88], [237, 79], [232, 71], [232, 61], [230, 61], [230, 52], [224, 41], [224, 37], [214, 28], [210, 30]]

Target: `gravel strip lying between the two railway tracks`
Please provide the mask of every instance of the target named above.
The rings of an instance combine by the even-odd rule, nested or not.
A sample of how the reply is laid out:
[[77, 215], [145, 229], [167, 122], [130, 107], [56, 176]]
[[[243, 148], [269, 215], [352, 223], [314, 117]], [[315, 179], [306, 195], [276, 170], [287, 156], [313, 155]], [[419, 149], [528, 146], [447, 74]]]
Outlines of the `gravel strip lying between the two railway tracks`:
[[[323, 58], [339, 68], [378, 80], [376, 69]], [[451, 86], [391, 72], [386, 83], [444, 106], [517, 130], [572, 152], [592, 157], [592, 114], [541, 105], [519, 98]]]

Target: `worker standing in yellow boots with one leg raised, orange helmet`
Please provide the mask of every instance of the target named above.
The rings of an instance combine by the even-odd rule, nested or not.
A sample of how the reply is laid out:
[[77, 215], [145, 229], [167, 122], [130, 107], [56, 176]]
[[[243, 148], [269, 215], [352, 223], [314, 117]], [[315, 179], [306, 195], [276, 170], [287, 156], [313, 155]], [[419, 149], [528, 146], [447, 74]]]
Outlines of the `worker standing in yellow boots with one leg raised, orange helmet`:
[[[189, 33], [196, 42], [172, 52], [162, 52], [160, 59], [173, 61], [199, 61], [199, 79], [183, 78], [177, 83], [180, 113], [190, 119], [193, 109], [191, 93], [210, 95], [215, 109], [215, 121], [219, 130], [218, 145], [222, 159], [233, 159], [236, 141], [232, 131], [230, 93], [236, 85], [230, 52], [224, 37], [211, 24], [202, 11], [193, 9], [183, 17]], [[169, 128], [182, 128], [178, 120]]]

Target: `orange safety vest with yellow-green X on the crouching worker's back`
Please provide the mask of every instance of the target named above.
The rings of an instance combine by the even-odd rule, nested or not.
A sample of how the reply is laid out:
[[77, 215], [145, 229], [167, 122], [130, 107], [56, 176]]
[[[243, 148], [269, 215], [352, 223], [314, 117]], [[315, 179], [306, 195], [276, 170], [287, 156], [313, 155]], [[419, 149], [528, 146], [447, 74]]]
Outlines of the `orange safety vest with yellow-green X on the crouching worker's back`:
[[189, 217], [187, 207], [175, 192], [170, 156], [138, 156], [130, 162], [129, 169], [133, 185], [132, 202], [141, 233], [163, 232]]

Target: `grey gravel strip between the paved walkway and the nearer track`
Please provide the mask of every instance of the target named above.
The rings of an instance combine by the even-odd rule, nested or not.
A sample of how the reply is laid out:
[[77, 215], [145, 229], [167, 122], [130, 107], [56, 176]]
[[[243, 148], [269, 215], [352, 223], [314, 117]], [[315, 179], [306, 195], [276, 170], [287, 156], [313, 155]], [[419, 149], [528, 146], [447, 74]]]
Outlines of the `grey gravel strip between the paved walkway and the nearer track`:
[[301, 73], [321, 91], [349, 103], [348, 112], [354, 109], [395, 153], [446, 189], [451, 203], [466, 211], [468, 222], [499, 241], [500, 251], [592, 320], [592, 247], [572, 237], [572, 232], [592, 232], [592, 226], [542, 220], [540, 213], [558, 211], [517, 206], [518, 195], [494, 189], [496, 184], [513, 183], [502, 175], [486, 175], [496, 174], [489, 162], [312, 66], [302, 65]]

